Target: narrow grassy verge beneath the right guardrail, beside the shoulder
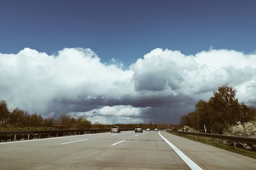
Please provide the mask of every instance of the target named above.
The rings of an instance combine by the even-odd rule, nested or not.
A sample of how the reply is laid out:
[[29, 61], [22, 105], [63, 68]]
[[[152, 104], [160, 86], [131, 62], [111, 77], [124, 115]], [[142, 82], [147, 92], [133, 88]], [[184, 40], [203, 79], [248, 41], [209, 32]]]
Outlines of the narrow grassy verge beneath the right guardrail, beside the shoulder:
[[[178, 134], [175, 134], [175, 133], [172, 133], [172, 134], [174, 134], [176, 136], [179, 136]], [[251, 157], [253, 159], [256, 159], [256, 152], [246, 150], [244, 148], [239, 148], [239, 147], [236, 147], [236, 149], [235, 149], [233, 145], [226, 145], [220, 139], [215, 139], [215, 141], [214, 141], [214, 139], [212, 139], [212, 138], [200, 137], [200, 136], [191, 136], [191, 135], [189, 135], [189, 136], [180, 136], [180, 137], [191, 139], [193, 141], [198, 141], [200, 143], [205, 143], [205, 144], [211, 145], [211, 146], [216, 146], [218, 148], [228, 150], [230, 152], [239, 153], [241, 155], [245, 155], [247, 157]]]

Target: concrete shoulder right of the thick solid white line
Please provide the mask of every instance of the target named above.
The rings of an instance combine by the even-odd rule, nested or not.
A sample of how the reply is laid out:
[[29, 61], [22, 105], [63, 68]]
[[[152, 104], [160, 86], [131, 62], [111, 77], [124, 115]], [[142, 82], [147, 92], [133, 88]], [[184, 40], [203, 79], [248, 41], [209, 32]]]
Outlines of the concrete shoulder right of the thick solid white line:
[[256, 169], [256, 159], [168, 132], [161, 132], [161, 134], [203, 169]]

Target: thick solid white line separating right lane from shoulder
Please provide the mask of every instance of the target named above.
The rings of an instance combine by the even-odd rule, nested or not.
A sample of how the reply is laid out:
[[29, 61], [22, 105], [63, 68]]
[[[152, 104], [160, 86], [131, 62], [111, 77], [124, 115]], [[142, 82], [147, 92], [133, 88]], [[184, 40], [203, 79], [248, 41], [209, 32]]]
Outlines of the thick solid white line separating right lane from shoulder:
[[201, 170], [202, 168], [198, 165], [196, 165], [193, 160], [189, 159], [183, 152], [181, 152], [176, 146], [174, 146], [170, 141], [168, 141], [166, 138], [164, 138], [160, 132], [158, 132], [159, 136], [164, 139], [164, 141], [171, 146], [171, 148], [179, 155], [179, 157], [191, 168], [196, 170]]

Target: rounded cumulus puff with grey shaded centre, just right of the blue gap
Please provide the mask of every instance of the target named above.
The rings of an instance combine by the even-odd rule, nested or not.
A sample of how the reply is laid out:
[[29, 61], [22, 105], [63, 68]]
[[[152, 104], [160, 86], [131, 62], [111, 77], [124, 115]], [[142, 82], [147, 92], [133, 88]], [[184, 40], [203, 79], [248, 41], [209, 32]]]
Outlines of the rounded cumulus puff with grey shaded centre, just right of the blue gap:
[[134, 71], [135, 89], [161, 91], [178, 90], [183, 74], [195, 69], [195, 60], [180, 52], [157, 48], [130, 66]]

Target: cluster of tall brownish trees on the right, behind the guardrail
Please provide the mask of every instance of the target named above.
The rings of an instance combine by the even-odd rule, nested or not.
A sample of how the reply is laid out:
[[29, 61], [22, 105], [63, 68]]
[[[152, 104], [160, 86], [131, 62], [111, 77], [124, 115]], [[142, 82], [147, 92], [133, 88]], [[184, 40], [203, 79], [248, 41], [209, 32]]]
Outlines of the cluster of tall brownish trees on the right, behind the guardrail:
[[222, 134], [230, 125], [249, 122], [255, 117], [255, 108], [239, 103], [236, 90], [225, 85], [219, 87], [208, 101], [198, 101], [195, 111], [181, 117], [180, 124], [193, 127], [197, 131]]

